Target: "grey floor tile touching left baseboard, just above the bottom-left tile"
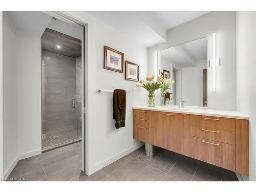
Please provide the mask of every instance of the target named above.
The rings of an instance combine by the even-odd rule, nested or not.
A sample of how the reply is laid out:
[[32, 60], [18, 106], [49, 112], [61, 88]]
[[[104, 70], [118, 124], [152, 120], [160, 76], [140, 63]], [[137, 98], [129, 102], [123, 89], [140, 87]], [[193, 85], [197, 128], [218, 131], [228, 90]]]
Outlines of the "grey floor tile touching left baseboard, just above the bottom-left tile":
[[41, 169], [41, 168], [42, 167], [41, 167], [39, 161], [37, 161], [35, 163], [27, 163], [23, 166], [14, 168], [8, 178], [18, 178], [18, 177], [27, 175], [29, 173], [35, 172], [36, 170]]

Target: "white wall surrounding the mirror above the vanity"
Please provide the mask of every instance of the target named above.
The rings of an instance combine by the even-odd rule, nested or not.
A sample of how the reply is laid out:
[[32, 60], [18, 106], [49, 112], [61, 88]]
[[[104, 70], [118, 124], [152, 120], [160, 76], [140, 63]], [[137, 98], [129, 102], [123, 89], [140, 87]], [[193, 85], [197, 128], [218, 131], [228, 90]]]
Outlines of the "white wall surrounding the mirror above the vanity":
[[154, 69], [154, 53], [207, 36], [207, 60], [212, 58], [212, 33], [216, 33], [216, 92], [212, 91], [212, 68], [208, 68], [208, 108], [236, 110], [236, 12], [210, 12], [167, 31], [167, 42], [148, 48], [148, 74]]

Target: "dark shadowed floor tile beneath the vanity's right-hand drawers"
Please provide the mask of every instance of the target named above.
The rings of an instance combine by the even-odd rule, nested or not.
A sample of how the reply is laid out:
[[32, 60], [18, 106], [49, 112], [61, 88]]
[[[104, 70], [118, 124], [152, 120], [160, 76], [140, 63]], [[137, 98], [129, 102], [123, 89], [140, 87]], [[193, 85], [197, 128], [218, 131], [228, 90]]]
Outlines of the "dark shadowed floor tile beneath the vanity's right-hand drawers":
[[199, 165], [193, 181], [221, 181], [222, 173], [218, 170]]

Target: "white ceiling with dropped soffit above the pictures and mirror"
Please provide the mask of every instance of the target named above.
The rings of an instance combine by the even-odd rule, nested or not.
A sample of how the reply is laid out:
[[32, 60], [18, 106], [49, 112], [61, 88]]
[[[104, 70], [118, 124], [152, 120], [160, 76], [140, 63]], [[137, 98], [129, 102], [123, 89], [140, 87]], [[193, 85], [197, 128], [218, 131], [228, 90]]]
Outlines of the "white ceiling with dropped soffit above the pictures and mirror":
[[145, 47], [166, 41], [166, 30], [208, 11], [88, 11], [91, 16], [134, 38]]

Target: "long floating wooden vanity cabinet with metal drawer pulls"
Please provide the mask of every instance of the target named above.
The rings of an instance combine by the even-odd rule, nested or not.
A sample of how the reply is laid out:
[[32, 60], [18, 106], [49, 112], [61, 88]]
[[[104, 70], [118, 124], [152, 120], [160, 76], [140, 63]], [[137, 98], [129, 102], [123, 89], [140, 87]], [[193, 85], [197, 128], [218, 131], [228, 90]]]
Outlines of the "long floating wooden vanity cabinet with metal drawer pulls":
[[249, 175], [248, 120], [133, 110], [133, 137]]

